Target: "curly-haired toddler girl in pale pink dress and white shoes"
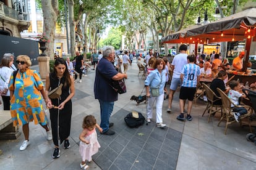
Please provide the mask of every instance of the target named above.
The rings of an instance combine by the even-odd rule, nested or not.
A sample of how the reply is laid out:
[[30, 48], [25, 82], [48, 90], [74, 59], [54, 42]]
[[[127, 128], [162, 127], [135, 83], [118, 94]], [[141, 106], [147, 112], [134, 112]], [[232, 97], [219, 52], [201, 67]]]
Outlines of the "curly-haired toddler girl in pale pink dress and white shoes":
[[82, 162], [80, 163], [80, 168], [87, 169], [89, 166], [86, 164], [87, 161], [92, 161], [92, 155], [98, 152], [100, 144], [97, 139], [97, 133], [95, 127], [102, 132], [102, 128], [96, 124], [96, 119], [92, 115], [88, 115], [83, 118], [83, 131], [81, 132], [79, 139], [79, 152], [82, 156]]

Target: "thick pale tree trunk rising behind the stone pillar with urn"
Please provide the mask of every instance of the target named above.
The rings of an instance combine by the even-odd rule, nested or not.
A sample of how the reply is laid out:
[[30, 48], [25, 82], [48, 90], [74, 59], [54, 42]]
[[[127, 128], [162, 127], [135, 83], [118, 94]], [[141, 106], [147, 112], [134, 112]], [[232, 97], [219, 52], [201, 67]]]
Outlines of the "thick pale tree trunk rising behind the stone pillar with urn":
[[41, 5], [43, 10], [43, 33], [49, 39], [49, 42], [46, 43], [45, 54], [53, 60], [56, 20], [59, 14], [58, 0], [42, 0]]

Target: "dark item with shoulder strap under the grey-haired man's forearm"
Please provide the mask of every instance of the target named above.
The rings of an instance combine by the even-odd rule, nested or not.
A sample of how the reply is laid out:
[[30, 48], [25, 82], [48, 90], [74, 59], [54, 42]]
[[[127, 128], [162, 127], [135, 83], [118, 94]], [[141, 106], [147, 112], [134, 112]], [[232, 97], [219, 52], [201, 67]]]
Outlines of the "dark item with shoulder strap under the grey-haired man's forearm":
[[[96, 68], [98, 70], [98, 68]], [[100, 71], [98, 70], [98, 72], [100, 73]], [[112, 89], [114, 89], [114, 91], [118, 92], [119, 94], [123, 94], [126, 93], [126, 83], [124, 83], [124, 78], [119, 79], [119, 80], [113, 80], [110, 81], [108, 78], [106, 78], [103, 74], [100, 73], [100, 75], [106, 80], [108, 81], [108, 84], [110, 87], [112, 87]]]

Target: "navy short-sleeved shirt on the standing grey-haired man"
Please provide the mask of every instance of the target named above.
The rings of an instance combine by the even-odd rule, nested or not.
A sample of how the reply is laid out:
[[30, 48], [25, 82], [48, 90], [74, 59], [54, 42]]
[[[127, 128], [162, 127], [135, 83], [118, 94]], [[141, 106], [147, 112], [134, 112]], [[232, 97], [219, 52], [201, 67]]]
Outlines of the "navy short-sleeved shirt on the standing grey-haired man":
[[100, 60], [96, 68], [94, 82], [95, 99], [100, 99], [105, 102], [114, 102], [118, 99], [118, 93], [109, 85], [109, 82], [113, 81], [112, 78], [117, 75], [117, 73], [114, 65], [109, 62], [109, 60], [104, 57]]

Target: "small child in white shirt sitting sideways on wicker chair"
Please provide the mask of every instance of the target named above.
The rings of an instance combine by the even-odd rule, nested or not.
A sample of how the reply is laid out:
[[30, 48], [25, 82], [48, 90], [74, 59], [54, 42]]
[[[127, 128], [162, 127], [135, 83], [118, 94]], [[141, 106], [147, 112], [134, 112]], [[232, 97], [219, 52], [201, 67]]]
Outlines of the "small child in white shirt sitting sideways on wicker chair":
[[[241, 87], [239, 87], [239, 83], [236, 80], [231, 80], [229, 83], [229, 87], [231, 88], [228, 92], [228, 98], [236, 105], [239, 105], [239, 98], [245, 97], [244, 94], [241, 94], [239, 90], [241, 90]], [[239, 122], [240, 116], [247, 113], [247, 110], [244, 107], [234, 107], [233, 104], [231, 104], [231, 107], [233, 107], [234, 118], [237, 122]]]

